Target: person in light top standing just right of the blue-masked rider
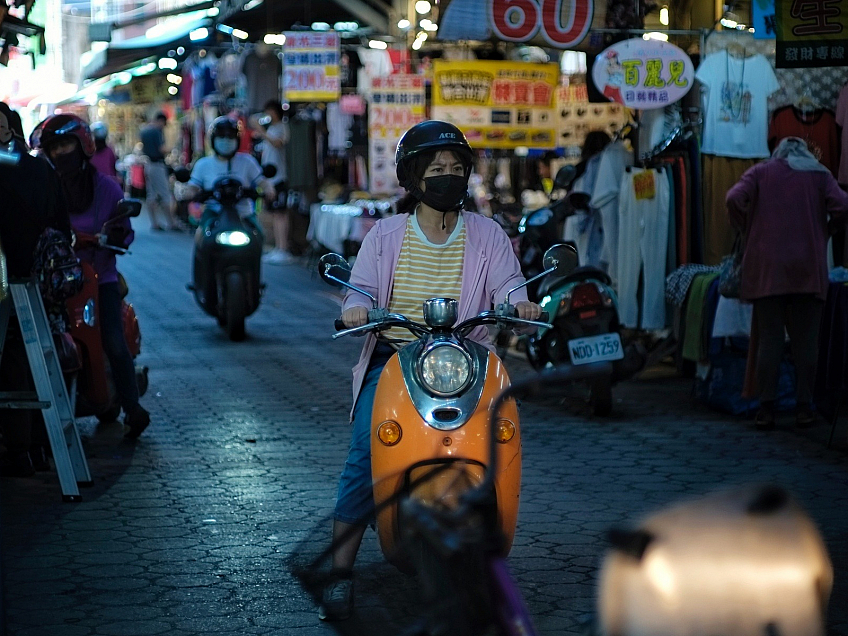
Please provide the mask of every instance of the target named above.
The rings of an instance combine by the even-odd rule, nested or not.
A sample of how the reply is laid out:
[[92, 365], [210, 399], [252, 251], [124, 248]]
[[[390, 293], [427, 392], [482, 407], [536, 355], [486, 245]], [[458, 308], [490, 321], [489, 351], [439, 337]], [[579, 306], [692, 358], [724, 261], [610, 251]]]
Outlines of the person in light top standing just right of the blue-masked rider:
[[262, 257], [264, 263], [286, 265], [292, 262], [289, 252], [290, 215], [287, 205], [289, 196], [288, 172], [286, 169], [286, 144], [289, 143], [289, 125], [285, 121], [285, 111], [279, 100], [272, 99], [265, 104], [265, 114], [271, 118], [268, 128], [263, 128], [255, 118], [251, 119], [254, 137], [262, 140], [262, 165], [272, 165], [277, 169], [274, 175], [276, 198], [268, 204], [274, 227], [274, 249]]

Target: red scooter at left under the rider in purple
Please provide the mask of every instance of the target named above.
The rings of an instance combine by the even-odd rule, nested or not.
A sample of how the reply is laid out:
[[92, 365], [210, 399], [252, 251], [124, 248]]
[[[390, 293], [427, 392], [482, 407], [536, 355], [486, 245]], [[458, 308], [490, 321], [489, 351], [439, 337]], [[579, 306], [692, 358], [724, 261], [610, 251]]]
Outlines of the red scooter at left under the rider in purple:
[[[104, 249], [116, 254], [127, 254], [129, 250], [109, 245], [106, 242], [109, 226], [127, 217], [141, 214], [141, 201], [124, 199], [118, 203], [118, 214], [103, 224], [94, 235], [76, 234], [75, 247]], [[72, 379], [70, 394], [75, 400], [77, 417], [95, 415], [101, 422], [114, 422], [121, 413], [121, 402], [112, 379], [109, 359], [103, 350], [100, 336], [100, 299], [97, 273], [88, 263], [82, 263], [84, 282], [82, 290], [65, 301], [68, 315], [68, 333], [80, 353], [82, 370]], [[120, 276], [120, 275], [119, 275]], [[126, 282], [120, 277], [124, 298], [121, 301], [121, 319], [124, 338], [133, 359], [141, 353], [141, 331], [133, 306], [126, 301]], [[138, 394], [143, 396], [148, 387], [148, 367], [136, 365], [135, 377]]]

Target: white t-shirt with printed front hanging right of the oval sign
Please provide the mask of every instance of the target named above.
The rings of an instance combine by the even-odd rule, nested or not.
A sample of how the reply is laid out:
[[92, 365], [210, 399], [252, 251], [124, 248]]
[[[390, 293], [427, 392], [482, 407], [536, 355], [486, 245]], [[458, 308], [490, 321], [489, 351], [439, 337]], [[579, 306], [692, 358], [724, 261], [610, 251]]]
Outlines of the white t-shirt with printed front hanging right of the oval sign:
[[695, 77], [708, 89], [701, 152], [768, 157], [768, 98], [780, 89], [769, 61], [760, 54], [737, 58], [723, 50], [708, 56]]

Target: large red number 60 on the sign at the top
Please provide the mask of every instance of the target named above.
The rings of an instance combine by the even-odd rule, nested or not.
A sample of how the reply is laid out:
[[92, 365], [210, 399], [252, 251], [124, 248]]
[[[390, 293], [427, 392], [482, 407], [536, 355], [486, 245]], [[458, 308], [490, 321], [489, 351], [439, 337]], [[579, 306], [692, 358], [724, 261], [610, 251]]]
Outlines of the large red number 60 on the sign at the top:
[[541, 31], [556, 48], [582, 41], [594, 14], [593, 0], [491, 0], [489, 6], [495, 34], [502, 40], [527, 42]]

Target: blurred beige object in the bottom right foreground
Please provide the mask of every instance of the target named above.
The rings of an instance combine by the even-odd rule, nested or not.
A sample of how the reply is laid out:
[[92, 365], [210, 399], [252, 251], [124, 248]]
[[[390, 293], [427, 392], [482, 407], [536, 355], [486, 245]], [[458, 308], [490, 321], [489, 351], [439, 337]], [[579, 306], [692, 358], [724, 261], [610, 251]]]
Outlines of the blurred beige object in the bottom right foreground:
[[678, 504], [613, 531], [600, 578], [604, 636], [821, 636], [833, 568], [778, 486]]

